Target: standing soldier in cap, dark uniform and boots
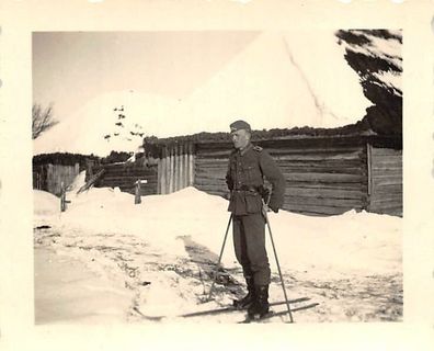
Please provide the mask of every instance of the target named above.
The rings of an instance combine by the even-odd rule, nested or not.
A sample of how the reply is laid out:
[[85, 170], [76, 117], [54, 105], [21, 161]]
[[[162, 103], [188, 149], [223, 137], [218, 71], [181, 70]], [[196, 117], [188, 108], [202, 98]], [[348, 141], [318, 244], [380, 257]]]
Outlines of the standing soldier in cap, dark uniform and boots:
[[[226, 183], [230, 191], [228, 211], [232, 213], [233, 246], [242, 267], [248, 294], [233, 304], [248, 308], [250, 316], [269, 313], [270, 264], [265, 250], [265, 214], [275, 213], [284, 202], [285, 179], [271, 156], [250, 143], [251, 128], [244, 121], [230, 125], [235, 149], [229, 156]], [[264, 177], [272, 184], [264, 188]], [[263, 197], [269, 197], [264, 204]]]

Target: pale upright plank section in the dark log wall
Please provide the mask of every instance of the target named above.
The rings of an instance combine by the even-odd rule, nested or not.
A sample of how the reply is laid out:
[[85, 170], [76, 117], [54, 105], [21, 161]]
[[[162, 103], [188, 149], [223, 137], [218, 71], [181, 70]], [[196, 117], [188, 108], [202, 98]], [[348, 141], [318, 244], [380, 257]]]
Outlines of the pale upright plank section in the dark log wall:
[[194, 160], [192, 143], [163, 147], [158, 160], [158, 193], [170, 194], [193, 185]]

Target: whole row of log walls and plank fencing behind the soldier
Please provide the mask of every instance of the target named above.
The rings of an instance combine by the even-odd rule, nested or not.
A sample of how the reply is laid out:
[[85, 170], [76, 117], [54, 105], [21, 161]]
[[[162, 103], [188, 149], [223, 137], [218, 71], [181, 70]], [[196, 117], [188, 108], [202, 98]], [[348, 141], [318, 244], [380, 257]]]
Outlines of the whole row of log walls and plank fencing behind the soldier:
[[[212, 136], [212, 137], [209, 137]], [[307, 215], [338, 215], [350, 210], [402, 216], [402, 141], [400, 137], [366, 135], [265, 134], [254, 140], [276, 160], [286, 179], [284, 210]], [[37, 162], [34, 188], [60, 194], [81, 169], [87, 179], [102, 169], [94, 186], [118, 186], [140, 195], [168, 194], [195, 186], [227, 197], [225, 182], [232, 144], [228, 135], [152, 139], [135, 162], [83, 165]], [[65, 162], [64, 162], [65, 163]]]

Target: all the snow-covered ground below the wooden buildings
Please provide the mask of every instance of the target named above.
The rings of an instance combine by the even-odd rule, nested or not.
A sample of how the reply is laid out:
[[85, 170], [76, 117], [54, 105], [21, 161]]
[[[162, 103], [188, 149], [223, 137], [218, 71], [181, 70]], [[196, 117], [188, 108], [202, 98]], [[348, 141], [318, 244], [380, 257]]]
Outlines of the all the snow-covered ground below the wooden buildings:
[[[216, 284], [214, 301], [204, 303], [229, 219], [226, 200], [194, 188], [144, 196], [138, 205], [133, 195], [116, 189], [91, 189], [79, 195], [71, 191], [67, 197], [71, 203], [60, 213], [57, 197], [34, 191], [35, 252], [44, 263], [35, 264], [36, 319], [38, 312], [55, 308], [46, 297], [53, 296], [48, 290], [54, 282], [60, 291], [57, 304], [70, 303], [73, 296], [78, 304], [52, 318], [45, 313], [36, 322], [107, 322], [114, 316], [128, 322], [233, 322], [243, 318], [240, 313], [179, 317], [230, 304], [243, 293], [229, 235], [222, 265], [230, 279]], [[401, 218], [364, 212], [309, 217], [282, 211], [271, 213], [270, 220], [288, 297], [308, 296], [319, 303], [296, 312], [296, 321], [402, 319]], [[267, 245], [271, 301], [281, 301], [283, 291], [270, 240]], [[50, 261], [44, 261], [46, 254]], [[77, 284], [68, 280], [70, 273], [80, 276], [80, 270], [81, 284], [79, 279]], [[77, 309], [83, 308], [79, 301], [84, 281], [98, 285], [98, 298], [88, 298], [88, 316], [83, 313], [77, 319]], [[68, 288], [64, 299], [62, 284]], [[104, 301], [110, 316], [102, 307]], [[99, 308], [103, 313], [91, 313]]]

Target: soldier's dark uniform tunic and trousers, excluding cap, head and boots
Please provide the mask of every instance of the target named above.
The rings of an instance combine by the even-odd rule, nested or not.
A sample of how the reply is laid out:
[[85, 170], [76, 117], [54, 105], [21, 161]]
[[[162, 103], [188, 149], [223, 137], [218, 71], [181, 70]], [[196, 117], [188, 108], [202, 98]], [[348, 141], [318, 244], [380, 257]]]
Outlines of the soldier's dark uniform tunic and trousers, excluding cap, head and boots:
[[233, 215], [233, 246], [247, 279], [254, 284], [270, 284], [270, 264], [265, 250], [265, 218], [262, 215], [261, 188], [272, 184], [269, 206], [273, 211], [284, 202], [285, 179], [272, 157], [251, 144], [229, 157], [226, 182], [230, 190], [228, 211]]

